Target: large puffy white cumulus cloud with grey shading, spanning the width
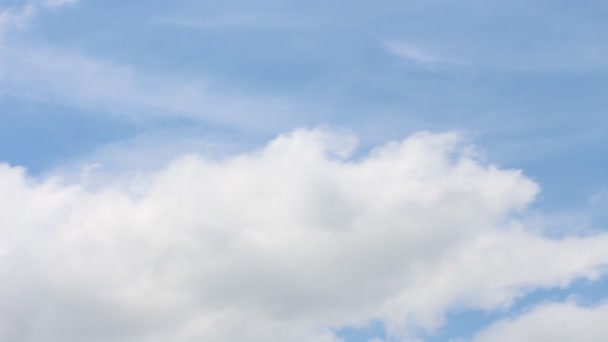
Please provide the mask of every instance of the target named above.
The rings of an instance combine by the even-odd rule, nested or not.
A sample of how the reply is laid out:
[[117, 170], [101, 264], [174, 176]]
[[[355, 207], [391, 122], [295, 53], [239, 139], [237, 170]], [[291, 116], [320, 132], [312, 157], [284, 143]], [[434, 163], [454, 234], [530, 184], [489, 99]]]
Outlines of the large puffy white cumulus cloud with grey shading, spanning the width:
[[458, 134], [355, 147], [298, 130], [95, 188], [1, 166], [0, 339], [339, 341], [372, 319], [409, 338], [608, 261], [606, 234], [524, 227], [538, 186]]

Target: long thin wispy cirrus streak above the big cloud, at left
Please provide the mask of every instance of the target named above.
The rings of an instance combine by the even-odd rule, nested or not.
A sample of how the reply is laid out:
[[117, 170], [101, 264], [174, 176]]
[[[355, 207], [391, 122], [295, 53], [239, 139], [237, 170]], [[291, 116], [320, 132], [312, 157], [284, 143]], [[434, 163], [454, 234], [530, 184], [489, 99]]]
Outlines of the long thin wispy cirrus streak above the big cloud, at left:
[[150, 74], [78, 53], [29, 47], [5, 51], [3, 57], [6, 67], [0, 84], [5, 92], [88, 112], [187, 118], [257, 129], [281, 125], [284, 113], [297, 113], [281, 97], [247, 95], [201, 77]]

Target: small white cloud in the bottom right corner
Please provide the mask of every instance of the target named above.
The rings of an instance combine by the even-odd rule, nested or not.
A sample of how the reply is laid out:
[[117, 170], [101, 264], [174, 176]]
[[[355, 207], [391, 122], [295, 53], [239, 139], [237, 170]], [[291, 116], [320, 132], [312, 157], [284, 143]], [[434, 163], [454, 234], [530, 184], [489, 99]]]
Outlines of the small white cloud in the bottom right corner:
[[492, 324], [475, 342], [608, 341], [608, 305], [582, 307], [573, 302], [551, 303], [519, 317]]

